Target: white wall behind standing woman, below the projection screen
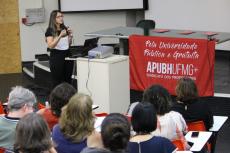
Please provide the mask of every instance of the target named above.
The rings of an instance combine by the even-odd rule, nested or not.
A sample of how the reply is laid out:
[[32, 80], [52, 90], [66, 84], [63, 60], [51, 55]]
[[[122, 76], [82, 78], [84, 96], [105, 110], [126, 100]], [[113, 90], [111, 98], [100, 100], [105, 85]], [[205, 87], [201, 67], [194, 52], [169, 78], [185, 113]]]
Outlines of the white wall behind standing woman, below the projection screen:
[[[45, 23], [37, 23], [32, 26], [25, 26], [21, 23], [21, 18], [25, 17], [25, 9], [40, 8], [42, 5], [46, 11]], [[45, 31], [49, 22], [49, 14], [58, 8], [57, 0], [19, 0], [19, 21], [20, 21], [20, 41], [22, 61], [34, 61], [35, 54], [46, 52]], [[128, 19], [129, 18], [129, 19]], [[133, 18], [133, 19], [132, 19]], [[135, 16], [122, 12], [89, 12], [89, 13], [69, 13], [64, 14], [65, 24], [73, 30], [74, 44], [82, 45], [87, 37], [85, 33], [112, 28], [116, 26], [135, 25]], [[100, 39], [100, 43], [116, 43], [116, 39]]]

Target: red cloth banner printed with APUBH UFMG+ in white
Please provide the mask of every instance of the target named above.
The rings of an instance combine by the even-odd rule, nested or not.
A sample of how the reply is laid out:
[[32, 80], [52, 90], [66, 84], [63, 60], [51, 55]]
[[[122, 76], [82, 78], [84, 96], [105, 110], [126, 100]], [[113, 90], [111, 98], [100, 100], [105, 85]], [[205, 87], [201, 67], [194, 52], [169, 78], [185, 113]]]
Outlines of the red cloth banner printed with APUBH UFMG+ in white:
[[200, 96], [214, 95], [215, 41], [206, 39], [129, 37], [131, 89], [161, 84], [170, 94], [181, 77], [192, 78]]

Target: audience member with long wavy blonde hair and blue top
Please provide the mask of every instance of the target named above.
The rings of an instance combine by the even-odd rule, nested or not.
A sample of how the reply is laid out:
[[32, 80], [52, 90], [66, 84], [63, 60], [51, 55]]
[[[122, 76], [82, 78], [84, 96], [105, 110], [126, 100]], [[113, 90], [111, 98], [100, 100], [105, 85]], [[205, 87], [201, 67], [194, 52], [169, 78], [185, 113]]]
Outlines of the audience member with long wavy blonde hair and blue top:
[[87, 146], [102, 146], [100, 134], [94, 130], [92, 104], [88, 95], [75, 94], [63, 107], [52, 131], [57, 152], [79, 153]]

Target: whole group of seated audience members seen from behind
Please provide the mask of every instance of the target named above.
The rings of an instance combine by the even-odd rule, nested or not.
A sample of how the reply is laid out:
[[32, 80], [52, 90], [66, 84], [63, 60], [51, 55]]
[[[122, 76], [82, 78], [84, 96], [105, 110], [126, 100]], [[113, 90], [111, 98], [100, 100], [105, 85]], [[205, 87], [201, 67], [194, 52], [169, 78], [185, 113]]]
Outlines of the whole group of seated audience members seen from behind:
[[8, 113], [0, 116], [0, 147], [20, 153], [171, 153], [172, 141], [182, 139], [189, 149], [186, 122], [202, 120], [209, 129], [212, 113], [190, 78], [178, 81], [176, 94], [173, 103], [167, 89], [152, 85], [141, 102], [130, 105], [131, 125], [125, 115], [111, 113], [97, 132], [91, 97], [73, 86], [56, 86], [50, 106], [38, 111], [33, 92], [17, 86], [9, 94]]

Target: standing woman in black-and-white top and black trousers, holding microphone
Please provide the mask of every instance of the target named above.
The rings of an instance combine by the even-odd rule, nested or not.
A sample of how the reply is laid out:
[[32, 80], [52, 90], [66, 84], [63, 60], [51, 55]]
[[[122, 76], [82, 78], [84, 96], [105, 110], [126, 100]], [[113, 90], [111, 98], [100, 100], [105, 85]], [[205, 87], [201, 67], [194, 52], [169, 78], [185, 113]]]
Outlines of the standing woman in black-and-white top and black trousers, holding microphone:
[[53, 87], [62, 83], [71, 83], [73, 63], [66, 61], [70, 56], [69, 46], [72, 43], [72, 31], [64, 25], [63, 14], [54, 10], [50, 14], [49, 26], [45, 33], [48, 50], [50, 51], [50, 70]]

